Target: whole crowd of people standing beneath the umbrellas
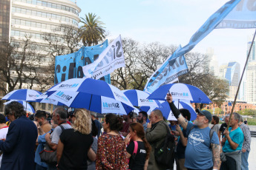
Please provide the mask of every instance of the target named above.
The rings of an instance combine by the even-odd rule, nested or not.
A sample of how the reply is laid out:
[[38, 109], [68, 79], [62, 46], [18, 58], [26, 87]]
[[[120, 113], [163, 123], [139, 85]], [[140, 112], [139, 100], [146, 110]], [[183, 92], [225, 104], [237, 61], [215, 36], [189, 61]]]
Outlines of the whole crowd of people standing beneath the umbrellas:
[[173, 161], [166, 166], [155, 156], [170, 133], [179, 170], [248, 169], [251, 135], [239, 114], [226, 115], [219, 126], [217, 116], [196, 109], [192, 123], [187, 109], [177, 109], [171, 95], [166, 98], [176, 121], [155, 109], [150, 115], [109, 113], [100, 123], [96, 112], [63, 107], [51, 115], [38, 110], [29, 119], [21, 103], [10, 102], [0, 114], [1, 169], [174, 169]]

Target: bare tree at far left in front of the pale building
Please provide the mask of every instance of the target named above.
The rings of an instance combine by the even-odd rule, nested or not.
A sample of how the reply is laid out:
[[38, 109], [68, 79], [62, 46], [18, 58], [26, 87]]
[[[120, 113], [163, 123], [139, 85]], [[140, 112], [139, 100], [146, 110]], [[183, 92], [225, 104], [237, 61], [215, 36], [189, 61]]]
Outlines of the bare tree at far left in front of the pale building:
[[41, 84], [42, 55], [31, 37], [25, 35], [22, 41], [2, 41], [0, 44], [0, 90], [3, 94], [22, 89], [32, 89], [34, 84]]

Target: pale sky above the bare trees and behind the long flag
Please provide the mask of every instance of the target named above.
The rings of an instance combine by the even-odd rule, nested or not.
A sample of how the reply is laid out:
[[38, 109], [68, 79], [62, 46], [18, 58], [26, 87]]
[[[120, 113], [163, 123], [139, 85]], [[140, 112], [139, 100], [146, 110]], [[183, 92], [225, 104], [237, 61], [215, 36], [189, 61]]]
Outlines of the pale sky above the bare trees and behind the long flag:
[[[189, 39], [226, 0], [76, 0], [79, 17], [95, 13], [105, 23], [108, 39], [118, 35], [141, 44], [158, 41], [165, 45], [188, 44]], [[254, 29], [215, 29], [191, 52], [206, 53], [211, 47], [219, 65], [246, 62], [247, 41]]]

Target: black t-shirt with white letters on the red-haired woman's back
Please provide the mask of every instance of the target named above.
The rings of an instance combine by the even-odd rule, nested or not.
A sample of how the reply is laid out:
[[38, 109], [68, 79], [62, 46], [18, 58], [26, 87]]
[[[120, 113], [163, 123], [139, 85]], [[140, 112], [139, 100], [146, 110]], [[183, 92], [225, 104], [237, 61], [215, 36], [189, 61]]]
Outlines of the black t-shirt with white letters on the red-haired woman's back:
[[129, 169], [131, 170], [143, 170], [145, 165], [145, 157], [147, 155], [147, 152], [145, 151], [145, 144], [141, 141], [137, 141], [137, 143], [138, 150], [134, 160], [132, 160], [132, 154], [134, 153], [134, 141], [131, 141], [126, 148], [127, 152], [131, 154], [129, 160]]

